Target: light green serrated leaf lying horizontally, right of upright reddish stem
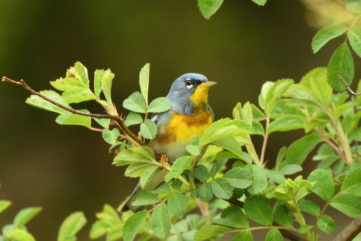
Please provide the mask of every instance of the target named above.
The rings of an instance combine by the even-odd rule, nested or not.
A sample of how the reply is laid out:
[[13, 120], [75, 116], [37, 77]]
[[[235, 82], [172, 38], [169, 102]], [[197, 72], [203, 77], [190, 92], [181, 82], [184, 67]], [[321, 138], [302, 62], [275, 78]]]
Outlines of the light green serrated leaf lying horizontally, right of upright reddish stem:
[[282, 116], [270, 123], [266, 130], [266, 134], [272, 132], [286, 132], [305, 127], [305, 121], [297, 116]]

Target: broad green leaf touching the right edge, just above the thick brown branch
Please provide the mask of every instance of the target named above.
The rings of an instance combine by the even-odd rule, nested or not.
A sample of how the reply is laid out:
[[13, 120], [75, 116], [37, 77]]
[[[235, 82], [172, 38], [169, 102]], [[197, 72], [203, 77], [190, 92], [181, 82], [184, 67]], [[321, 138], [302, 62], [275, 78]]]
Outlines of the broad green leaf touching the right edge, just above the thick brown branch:
[[351, 218], [361, 212], [361, 201], [352, 193], [341, 194], [330, 202], [330, 205]]

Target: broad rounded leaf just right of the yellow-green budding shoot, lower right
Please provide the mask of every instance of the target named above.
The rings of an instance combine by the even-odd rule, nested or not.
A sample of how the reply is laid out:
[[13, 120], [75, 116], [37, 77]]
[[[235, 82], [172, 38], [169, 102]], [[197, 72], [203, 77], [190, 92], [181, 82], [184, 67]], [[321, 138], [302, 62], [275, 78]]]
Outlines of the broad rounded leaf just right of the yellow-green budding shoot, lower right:
[[309, 189], [324, 201], [328, 202], [333, 197], [335, 184], [330, 172], [324, 169], [316, 169], [310, 173], [307, 180], [309, 182], [316, 182], [314, 186], [309, 186]]

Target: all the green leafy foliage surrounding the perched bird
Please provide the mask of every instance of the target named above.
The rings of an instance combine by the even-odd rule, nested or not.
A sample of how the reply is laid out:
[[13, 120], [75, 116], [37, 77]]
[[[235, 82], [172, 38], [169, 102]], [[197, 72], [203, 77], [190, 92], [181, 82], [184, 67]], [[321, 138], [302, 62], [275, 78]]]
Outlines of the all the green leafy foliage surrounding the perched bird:
[[[253, 1], [259, 5], [266, 2]], [[357, 1], [345, 2], [347, 10], [361, 13]], [[222, 0], [198, 0], [205, 18], [221, 4]], [[314, 53], [330, 39], [347, 32], [346, 40], [361, 57], [361, 26], [355, 24], [358, 18], [355, 16], [350, 26], [337, 24], [319, 30], [312, 42]], [[347, 41], [337, 48], [327, 68], [311, 70], [298, 83], [292, 79], [264, 83], [258, 96], [260, 108], [249, 102], [238, 103], [232, 119], [215, 121], [186, 147], [187, 155], [164, 166], [158, 161], [157, 153], [139, 141], [155, 138], [157, 126], [148, 118], [150, 114], [171, 108], [170, 100], [165, 97], [149, 102], [149, 64], [139, 74], [140, 92], [130, 94], [123, 101], [123, 108], [130, 111], [121, 120], [124, 126], [119, 122], [111, 124], [108, 118], [112, 117], [89, 116], [85, 109], [81, 110], [84, 115], [71, 112], [70, 104], [95, 100], [105, 112], [118, 116], [111, 98], [114, 74], [109, 69], [96, 70], [91, 90], [88, 70], [80, 62], [70, 67], [64, 78], [51, 82], [60, 94], [53, 90], [40, 92], [68, 109], [39, 95], [31, 95], [26, 103], [60, 114], [56, 118], [58, 124], [81, 125], [102, 132], [104, 141], [110, 144], [109, 151], [117, 152], [113, 164], [127, 165], [125, 175], [139, 177], [142, 188], [161, 168], [167, 173], [164, 184], [156, 190], [141, 191], [133, 203], [152, 205], [149, 210], [119, 213], [104, 205], [91, 227], [92, 239], [105, 236], [108, 241], [121, 238], [131, 241], [137, 236], [143, 241], [200, 241], [233, 233], [232, 240], [247, 241], [252, 240], [252, 231], [267, 229], [267, 241], [282, 240], [281, 233], [285, 231], [316, 241], [321, 233], [335, 231], [335, 221], [325, 214], [328, 208], [336, 208], [351, 218], [361, 212], [358, 147], [361, 98], [349, 98], [347, 92], [333, 93], [333, 89], [346, 88], [338, 75], [351, 84], [354, 68]], [[360, 86], [359, 83], [359, 91]], [[139, 125], [139, 140], [127, 132], [130, 125]], [[282, 147], [274, 167], [270, 167], [264, 160], [269, 135], [296, 129], [303, 130], [305, 135]], [[253, 135], [264, 138], [260, 152], [253, 146]], [[294, 175], [302, 171], [303, 163], [314, 149], [317, 154], [312, 159], [318, 162], [317, 168], [307, 178]], [[319, 197], [318, 203], [309, 199], [312, 193]], [[9, 201], [0, 201], [0, 211], [9, 205]], [[13, 224], [3, 228], [0, 240], [35, 240], [24, 225], [40, 210], [21, 210]], [[305, 213], [312, 217], [306, 218]], [[258, 224], [250, 227], [249, 219]], [[60, 227], [58, 241], [76, 240], [75, 234], [85, 223], [81, 212], [71, 214]]]

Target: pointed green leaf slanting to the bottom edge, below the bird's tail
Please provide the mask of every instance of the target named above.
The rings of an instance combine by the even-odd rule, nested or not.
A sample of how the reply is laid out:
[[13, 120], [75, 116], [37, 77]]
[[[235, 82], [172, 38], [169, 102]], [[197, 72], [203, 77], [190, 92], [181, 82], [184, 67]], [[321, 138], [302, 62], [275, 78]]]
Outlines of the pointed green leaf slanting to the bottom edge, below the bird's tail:
[[138, 233], [140, 227], [147, 218], [149, 211], [140, 211], [130, 216], [123, 226], [123, 239], [124, 241], [132, 241]]

